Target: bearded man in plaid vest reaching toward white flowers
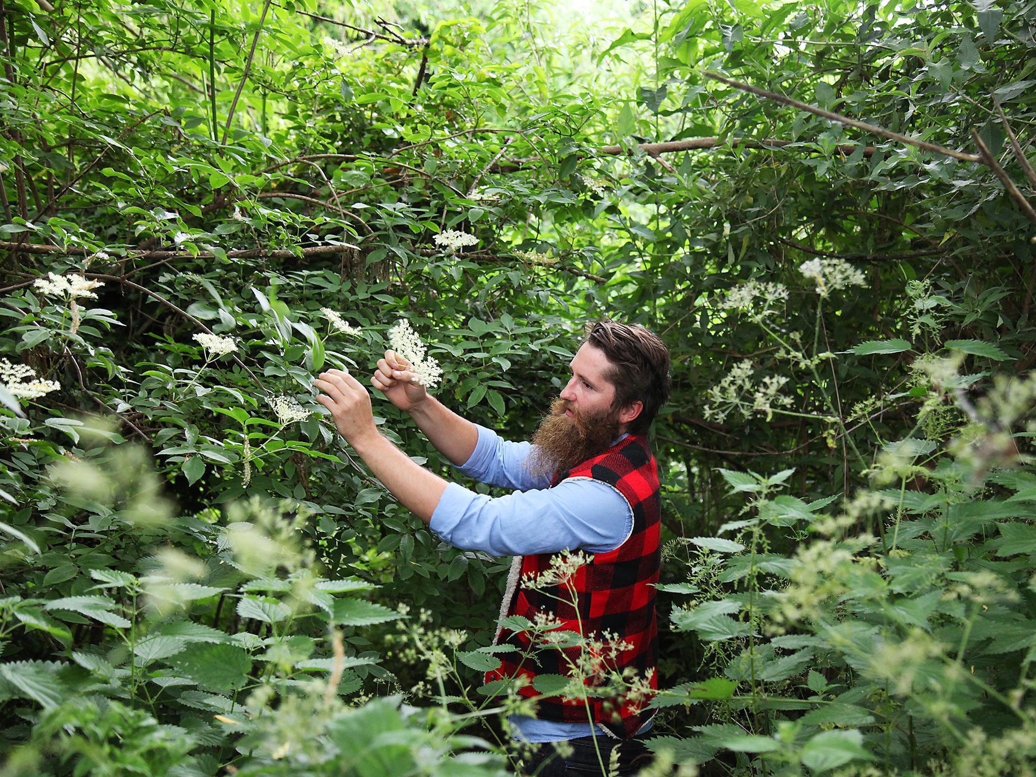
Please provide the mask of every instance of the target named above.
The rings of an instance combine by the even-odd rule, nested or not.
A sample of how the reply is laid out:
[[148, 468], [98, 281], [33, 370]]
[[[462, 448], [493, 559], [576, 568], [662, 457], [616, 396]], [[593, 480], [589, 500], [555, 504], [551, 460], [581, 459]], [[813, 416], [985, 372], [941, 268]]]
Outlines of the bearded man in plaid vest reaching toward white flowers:
[[[541, 621], [562, 622], [587, 638], [613, 637], [622, 650], [611, 655], [608, 668], [657, 689], [659, 484], [646, 432], [669, 394], [669, 353], [662, 341], [638, 324], [588, 325], [569, 366], [572, 377], [530, 442], [505, 441], [452, 412], [414, 382], [408, 367], [386, 351], [371, 384], [409, 412], [462, 472], [513, 493], [478, 494], [412, 462], [378, 432], [367, 390], [346, 372], [321, 373], [314, 381], [323, 392], [317, 401], [382, 484], [436, 534], [459, 548], [516, 556], [501, 617], [531, 621], [542, 613]], [[558, 554], [577, 550], [588, 554], [588, 563], [568, 583], [575, 592], [568, 601], [518, 589], [520, 575], [547, 572]], [[653, 712], [642, 699], [540, 697], [531, 685], [538, 674], [569, 673], [563, 652], [537, 651], [525, 634], [506, 630], [497, 640], [519, 651], [501, 653], [503, 665], [487, 681], [521, 675], [529, 681], [522, 694], [539, 697], [536, 718], [511, 718], [519, 739], [568, 741], [574, 748], [568, 762], [584, 768], [602, 760], [607, 767], [611, 749], [625, 742], [618, 773], [633, 773], [630, 759], [644, 748], [631, 740], [651, 727]], [[529, 650], [531, 660], [517, 660]], [[553, 748], [541, 744], [533, 767], [526, 764], [528, 773], [551, 756]], [[547, 777], [552, 769], [564, 773], [565, 761], [538, 774]]]

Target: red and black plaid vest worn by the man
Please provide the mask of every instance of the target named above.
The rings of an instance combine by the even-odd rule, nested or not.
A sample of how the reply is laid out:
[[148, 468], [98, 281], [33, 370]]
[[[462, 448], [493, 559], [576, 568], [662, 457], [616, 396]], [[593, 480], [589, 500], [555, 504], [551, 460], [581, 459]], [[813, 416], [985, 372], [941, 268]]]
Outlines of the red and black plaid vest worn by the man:
[[[566, 584], [543, 591], [516, 586], [506, 614], [533, 621], [543, 613], [564, 624], [556, 631], [577, 632], [605, 643], [624, 641], [629, 645], [627, 650], [617, 654], [605, 650], [602, 655], [595, 651], [589, 660], [597, 666], [632, 675], [631, 679], [657, 690], [658, 623], [653, 583], [658, 582], [661, 562], [660, 508], [658, 465], [651, 455], [648, 438], [625, 437], [599, 456], [576, 465], [564, 478], [555, 476], [551, 487], [571, 479], [600, 481], [618, 491], [633, 511], [633, 530], [614, 550], [589, 554], [589, 563], [580, 567]], [[521, 576], [547, 570], [554, 555], [523, 556]], [[541, 696], [533, 687], [537, 677], [570, 675], [574, 662], [581, 658], [585, 664], [587, 659], [584, 646], [540, 649], [529, 658], [523, 658], [522, 654], [529, 649], [528, 634], [507, 629], [500, 631], [498, 643], [513, 644], [518, 651], [498, 654], [502, 664], [486, 672], [486, 682], [524, 677], [527, 683], [520, 693], [528, 698]], [[592, 675], [585, 680], [594, 694], [587, 700], [564, 695], [539, 698], [537, 717], [567, 723], [593, 720], [615, 737], [632, 737], [654, 714], [654, 710], [644, 709], [650, 692], [610, 695], [606, 688], [600, 687], [601, 679]]]

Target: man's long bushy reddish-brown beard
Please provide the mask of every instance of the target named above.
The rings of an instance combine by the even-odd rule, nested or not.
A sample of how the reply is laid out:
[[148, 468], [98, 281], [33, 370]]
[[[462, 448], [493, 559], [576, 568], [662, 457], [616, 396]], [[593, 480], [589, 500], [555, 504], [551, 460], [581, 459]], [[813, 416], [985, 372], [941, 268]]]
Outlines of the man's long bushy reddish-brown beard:
[[[572, 410], [573, 418], [565, 414]], [[618, 436], [618, 412], [606, 410], [583, 415], [568, 400], [555, 399], [533, 434], [533, 451], [527, 460], [535, 476], [564, 474], [611, 445]]]

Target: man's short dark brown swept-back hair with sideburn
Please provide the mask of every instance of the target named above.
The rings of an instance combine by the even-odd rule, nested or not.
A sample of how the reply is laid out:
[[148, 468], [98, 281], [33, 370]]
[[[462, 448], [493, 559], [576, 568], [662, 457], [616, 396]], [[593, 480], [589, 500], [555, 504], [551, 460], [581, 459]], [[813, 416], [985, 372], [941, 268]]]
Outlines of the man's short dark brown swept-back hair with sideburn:
[[643, 403], [640, 414], [630, 422], [630, 432], [644, 434], [669, 398], [669, 349], [659, 337], [640, 324], [605, 319], [586, 324], [583, 343], [604, 351], [611, 362], [605, 375], [615, 386], [612, 407]]

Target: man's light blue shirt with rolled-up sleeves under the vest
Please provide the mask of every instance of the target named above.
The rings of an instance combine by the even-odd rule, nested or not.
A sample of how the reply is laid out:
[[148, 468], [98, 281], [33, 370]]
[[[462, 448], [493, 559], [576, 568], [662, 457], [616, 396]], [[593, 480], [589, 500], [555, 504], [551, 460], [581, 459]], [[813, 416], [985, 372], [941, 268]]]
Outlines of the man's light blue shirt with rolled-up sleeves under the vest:
[[[550, 488], [550, 476], [534, 476], [526, 461], [531, 444], [511, 442], [483, 426], [471, 456], [460, 465], [469, 478], [514, 489], [491, 497], [456, 483], [447, 486], [429, 527], [451, 545], [496, 556], [585, 550], [614, 550], [633, 530], [629, 502], [607, 483], [564, 481]], [[625, 436], [625, 435], [624, 435]], [[603, 733], [592, 723], [558, 723], [512, 715], [517, 739], [557, 742]], [[651, 727], [651, 721], [641, 731]]]

